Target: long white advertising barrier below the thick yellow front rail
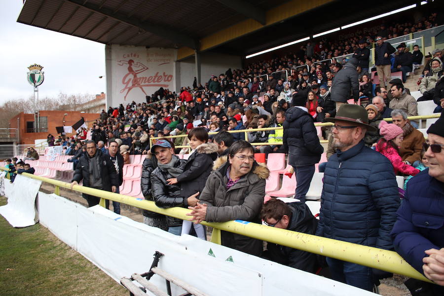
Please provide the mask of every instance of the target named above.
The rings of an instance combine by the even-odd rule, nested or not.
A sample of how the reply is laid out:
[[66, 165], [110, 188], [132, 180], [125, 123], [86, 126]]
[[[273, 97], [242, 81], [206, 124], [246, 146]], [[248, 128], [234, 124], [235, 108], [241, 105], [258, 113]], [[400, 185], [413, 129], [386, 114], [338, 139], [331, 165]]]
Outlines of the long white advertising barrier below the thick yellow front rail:
[[[189, 235], [176, 236], [100, 206], [87, 209], [41, 192], [39, 199], [41, 222], [117, 282], [147, 272], [159, 251], [164, 254], [159, 268], [211, 296], [294, 296], [295, 291], [310, 296], [374, 295]], [[150, 282], [166, 292], [163, 278], [154, 275]], [[172, 292], [184, 293], [175, 285]]]

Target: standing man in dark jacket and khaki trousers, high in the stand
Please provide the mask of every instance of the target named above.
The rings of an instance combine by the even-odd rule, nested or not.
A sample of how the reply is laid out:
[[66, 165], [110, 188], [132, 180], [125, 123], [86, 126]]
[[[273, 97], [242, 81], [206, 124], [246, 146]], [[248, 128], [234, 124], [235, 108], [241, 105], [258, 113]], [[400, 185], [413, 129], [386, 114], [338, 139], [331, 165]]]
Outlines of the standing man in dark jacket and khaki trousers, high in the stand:
[[376, 71], [379, 77], [379, 86], [386, 87], [390, 81], [390, 55], [396, 49], [388, 42], [384, 42], [381, 36], [376, 37], [376, 46], [374, 47], [374, 60]]

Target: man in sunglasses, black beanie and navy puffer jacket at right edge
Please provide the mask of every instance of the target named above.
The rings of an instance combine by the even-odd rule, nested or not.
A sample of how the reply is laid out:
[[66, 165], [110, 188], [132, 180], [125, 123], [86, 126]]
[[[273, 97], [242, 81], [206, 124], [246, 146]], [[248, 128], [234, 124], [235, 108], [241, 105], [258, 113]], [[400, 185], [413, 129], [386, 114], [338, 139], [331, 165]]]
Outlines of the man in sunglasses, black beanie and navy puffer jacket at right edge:
[[430, 295], [444, 295], [443, 113], [427, 134], [424, 155], [430, 166], [408, 181], [391, 235], [396, 252], [436, 283], [420, 282], [423, 289], [429, 289]]

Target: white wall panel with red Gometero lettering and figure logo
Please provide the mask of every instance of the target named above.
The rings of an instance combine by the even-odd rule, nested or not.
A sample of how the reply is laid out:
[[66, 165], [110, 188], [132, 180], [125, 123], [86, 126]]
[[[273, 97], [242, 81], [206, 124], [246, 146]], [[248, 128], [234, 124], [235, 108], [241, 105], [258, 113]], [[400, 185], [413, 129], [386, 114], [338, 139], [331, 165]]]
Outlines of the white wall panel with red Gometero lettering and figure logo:
[[[111, 107], [146, 102], [146, 96], [163, 89], [176, 89], [177, 49], [111, 45]], [[107, 69], [107, 73], [110, 73]]]

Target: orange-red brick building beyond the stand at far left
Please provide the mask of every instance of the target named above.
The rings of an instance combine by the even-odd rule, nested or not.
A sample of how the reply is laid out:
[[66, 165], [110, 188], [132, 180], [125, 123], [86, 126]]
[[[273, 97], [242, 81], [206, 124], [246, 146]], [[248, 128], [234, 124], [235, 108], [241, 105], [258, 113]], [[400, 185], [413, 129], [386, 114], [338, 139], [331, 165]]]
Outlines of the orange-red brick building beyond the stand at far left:
[[[66, 115], [65, 115], [66, 114]], [[81, 111], [38, 111], [36, 114], [20, 112], [9, 120], [10, 128], [18, 128], [17, 144], [34, 145], [37, 139], [46, 139], [48, 134], [57, 137], [56, 126], [72, 126], [83, 117], [87, 124], [100, 117], [99, 113]], [[40, 122], [40, 126], [36, 126]], [[75, 131], [67, 136], [75, 135]]]

